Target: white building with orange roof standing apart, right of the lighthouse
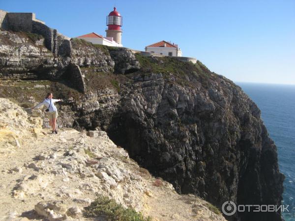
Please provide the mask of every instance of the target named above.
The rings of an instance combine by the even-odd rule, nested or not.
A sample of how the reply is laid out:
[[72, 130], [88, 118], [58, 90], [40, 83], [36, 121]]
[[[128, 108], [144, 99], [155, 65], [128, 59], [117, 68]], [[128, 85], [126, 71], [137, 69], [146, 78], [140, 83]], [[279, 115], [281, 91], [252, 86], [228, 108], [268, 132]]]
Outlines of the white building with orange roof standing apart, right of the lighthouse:
[[167, 41], [160, 41], [146, 47], [146, 52], [157, 53], [160, 55], [181, 57], [182, 52], [177, 44], [172, 44]]

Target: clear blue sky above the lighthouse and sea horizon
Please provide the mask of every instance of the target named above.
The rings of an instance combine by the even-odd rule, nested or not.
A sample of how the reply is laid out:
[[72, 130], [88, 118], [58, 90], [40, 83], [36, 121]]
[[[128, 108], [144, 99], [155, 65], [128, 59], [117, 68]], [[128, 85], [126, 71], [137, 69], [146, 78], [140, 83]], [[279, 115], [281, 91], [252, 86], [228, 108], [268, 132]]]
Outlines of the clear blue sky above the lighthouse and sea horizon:
[[124, 47], [167, 40], [235, 82], [295, 84], [295, 0], [0, 0], [69, 37], [105, 35], [114, 5]]

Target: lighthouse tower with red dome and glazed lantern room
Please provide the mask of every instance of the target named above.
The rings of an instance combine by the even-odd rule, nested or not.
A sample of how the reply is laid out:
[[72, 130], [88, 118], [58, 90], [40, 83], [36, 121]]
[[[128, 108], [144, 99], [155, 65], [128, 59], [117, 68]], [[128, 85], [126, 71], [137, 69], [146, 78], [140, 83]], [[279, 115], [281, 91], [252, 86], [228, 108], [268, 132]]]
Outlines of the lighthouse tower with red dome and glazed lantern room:
[[117, 11], [117, 8], [114, 7], [114, 11], [111, 11], [107, 16], [107, 38], [113, 38], [115, 42], [121, 44], [122, 38], [122, 16]]

